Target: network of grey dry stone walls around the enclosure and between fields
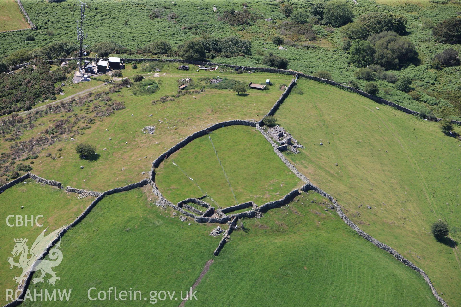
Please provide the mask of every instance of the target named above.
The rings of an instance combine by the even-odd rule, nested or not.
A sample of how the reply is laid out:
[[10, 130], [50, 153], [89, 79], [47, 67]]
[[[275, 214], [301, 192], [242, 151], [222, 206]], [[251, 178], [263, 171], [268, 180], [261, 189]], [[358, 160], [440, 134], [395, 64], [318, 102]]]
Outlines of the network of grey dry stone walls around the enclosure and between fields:
[[[154, 61], [154, 60], [159, 60], [159, 59], [124, 59], [125, 61], [126, 60], [131, 60], [131, 61], [139, 61], [139, 62], [142, 62], [142, 61]], [[191, 63], [191, 64], [211, 64], [213, 65], [213, 63], [208, 63], [208, 62], [198, 62], [198, 61], [183, 61], [183, 60], [175, 60], [175, 59], [171, 59], [171, 60], [167, 60], [167, 61], [170, 61], [170, 62], [180, 62], [180, 63]], [[22, 64], [21, 64], [22, 65]], [[236, 67], [236, 66], [233, 66], [233, 65], [228, 65], [228, 64], [218, 64], [218, 65], [224, 65], [224, 66], [228, 66], [228, 67]], [[278, 73], [289, 73], [291, 75], [296, 75], [298, 74], [297, 72], [295, 71], [290, 71], [290, 70], [278, 70], [278, 69], [266, 69], [266, 68], [254, 68], [255, 70], [260, 70], [260, 71], [267, 71], [267, 72], [278, 72]], [[321, 79], [321, 78], [318, 78], [318, 77], [314, 77], [314, 76], [310, 76], [310, 75], [305, 75], [305, 74], [302, 74], [302, 73], [299, 73], [299, 76], [303, 76], [303, 77], [306, 77], [306, 78], [309, 78], [309, 79], [312, 79], [312, 80], [316, 80], [316, 81], [321, 81], [321, 82], [325, 82], [325, 83], [328, 83], [328, 84], [331, 84], [331, 85], [335, 85], [335, 86], [338, 86], [338, 87], [343, 87], [343, 88], [346, 88], [348, 90], [351, 90], [355, 93], [358, 93], [362, 96], [365, 96], [367, 98], [371, 98], [372, 100], [374, 101], [377, 101], [378, 103], [383, 103], [383, 104], [387, 104], [387, 105], [390, 105], [392, 107], [395, 107], [399, 110], [402, 110], [404, 112], [407, 112], [409, 114], [418, 114], [418, 112], [416, 111], [413, 111], [413, 110], [409, 110], [407, 108], [404, 108], [398, 104], [394, 104], [390, 101], [387, 101], [383, 98], [378, 98], [376, 96], [372, 96], [372, 95], [369, 95], [365, 92], [362, 92], [360, 90], [357, 90], [353, 87], [347, 87], [347, 86], [344, 86], [344, 85], [341, 85], [341, 84], [338, 84], [337, 82], [334, 82], [334, 81], [331, 81], [331, 80], [326, 80], [326, 79]], [[291, 88], [294, 86], [294, 83], [295, 81], [293, 80], [289, 87], [287, 87], [287, 89], [285, 90], [285, 92], [282, 94], [282, 96], [277, 100], [277, 102], [274, 104], [274, 106], [272, 107], [272, 109], [269, 111], [268, 115], [272, 115], [275, 113], [275, 111], [278, 109], [278, 107], [280, 106], [281, 103], [283, 103], [284, 99], [287, 97], [287, 95], [290, 93], [290, 90]], [[461, 122], [458, 122], [458, 121], [453, 121], [453, 122], [456, 122], [456, 123], [461, 123]], [[196, 139], [196, 138], [199, 138], [201, 136], [204, 136], [206, 135], [207, 133], [209, 133], [210, 131], [213, 131], [213, 130], [216, 130], [220, 127], [228, 127], [228, 126], [233, 126], [233, 125], [245, 125], [245, 126], [251, 126], [251, 127], [256, 127], [260, 133], [263, 134], [263, 136], [266, 138], [266, 140], [272, 145], [272, 147], [274, 148], [274, 152], [277, 154], [277, 156], [284, 162], [284, 164], [290, 168], [290, 170], [296, 174], [296, 176], [298, 178], [300, 178], [302, 181], [306, 182], [305, 185], [303, 185], [301, 187], [301, 191], [316, 191], [318, 192], [320, 195], [326, 197], [327, 199], [329, 199], [335, 206], [336, 206], [336, 210], [337, 210], [337, 214], [341, 217], [341, 219], [343, 219], [343, 221], [349, 226], [351, 227], [352, 229], [354, 229], [361, 237], [364, 237], [366, 240], [370, 241], [371, 243], [373, 243], [374, 245], [378, 246], [379, 248], [381, 249], [384, 249], [386, 251], [388, 251], [391, 255], [393, 255], [394, 257], [396, 257], [397, 260], [401, 261], [402, 263], [404, 263], [405, 265], [411, 267], [412, 269], [414, 269], [415, 271], [419, 272], [423, 277], [424, 279], [426, 280], [426, 282], [429, 284], [429, 287], [431, 288], [431, 291], [432, 291], [432, 294], [437, 298], [437, 300], [442, 304], [443, 307], [448, 307], [448, 305], [446, 304], [446, 302], [438, 295], [437, 291], [435, 290], [435, 288], [433, 287], [432, 283], [431, 283], [431, 280], [429, 279], [429, 277], [427, 276], [427, 274], [421, 270], [420, 268], [418, 268], [417, 266], [415, 266], [411, 261], [408, 261], [408, 259], [404, 258], [402, 255], [400, 255], [399, 253], [396, 252], [396, 250], [390, 248], [388, 245], [384, 244], [384, 243], [381, 243], [379, 242], [378, 240], [374, 239], [373, 237], [371, 237], [370, 235], [368, 235], [366, 232], [363, 232], [357, 225], [355, 225], [351, 220], [349, 220], [349, 218], [343, 213], [343, 211], [341, 210], [341, 207], [340, 205], [337, 203], [337, 201], [328, 193], [326, 193], [325, 191], [319, 189], [317, 186], [313, 185], [308, 179], [307, 177], [304, 175], [304, 174], [301, 174], [289, 161], [288, 159], [286, 159], [286, 157], [278, 150], [278, 145], [275, 144], [275, 142], [273, 142], [273, 140], [271, 139], [271, 137], [264, 132], [264, 130], [260, 127], [259, 123], [256, 123], [256, 122], [251, 122], [251, 121], [242, 121], [242, 120], [234, 120], [234, 121], [227, 121], [227, 122], [221, 122], [221, 123], [217, 123], [213, 126], [210, 126], [210, 127], [207, 127], [201, 131], [198, 131], [196, 133], [193, 133], [192, 135], [190, 135], [189, 137], [183, 139], [182, 141], [180, 141], [179, 143], [177, 143], [176, 145], [174, 145], [173, 147], [171, 147], [168, 151], [166, 151], [165, 153], [163, 153], [162, 155], [160, 155], [153, 163], [152, 163], [152, 169], [151, 169], [151, 177], [150, 179], [145, 179], [145, 180], [142, 180], [140, 182], [136, 182], [136, 183], [133, 183], [133, 184], [130, 184], [130, 185], [126, 185], [126, 186], [123, 186], [123, 187], [119, 187], [119, 188], [115, 188], [115, 189], [112, 189], [112, 190], [108, 190], [108, 191], [105, 191], [103, 193], [100, 193], [100, 195], [98, 195], [96, 197], [96, 199], [88, 206], [87, 209], [85, 209], [85, 211], [83, 211], [82, 214], [80, 214], [76, 220], [74, 220], [71, 224], [69, 224], [68, 226], [66, 226], [65, 228], [63, 228], [63, 230], [59, 233], [59, 236], [53, 240], [52, 243], [50, 243], [50, 245], [48, 246], [47, 250], [45, 251], [44, 254], [41, 255], [41, 257], [39, 259], [43, 259], [43, 257], [45, 257], [49, 251], [49, 249], [51, 249], [51, 247], [56, 244], [58, 241], [59, 241], [59, 238], [65, 234], [65, 232], [67, 232], [68, 229], [70, 229], [71, 227], [77, 225], [81, 220], [83, 220], [83, 218], [89, 214], [89, 212], [91, 211], [91, 209], [93, 209], [95, 207], [95, 205], [97, 203], [100, 202], [100, 200], [105, 197], [106, 195], [111, 195], [111, 194], [114, 194], [114, 193], [118, 193], [118, 192], [122, 192], [122, 191], [129, 191], [129, 190], [132, 190], [132, 189], [135, 189], [135, 188], [138, 188], [138, 187], [142, 187], [144, 185], [152, 185], [153, 186], [153, 193], [159, 198], [159, 200], [157, 201], [157, 205], [158, 206], [162, 206], [162, 207], [166, 207], [166, 205], [172, 207], [173, 209], [177, 210], [177, 211], [180, 211], [182, 214], [184, 215], [187, 215], [187, 216], [190, 216], [192, 218], [194, 218], [195, 222], [199, 222], [199, 223], [205, 223], [205, 222], [208, 222], [208, 223], [228, 223], [229, 224], [229, 228], [228, 230], [225, 232], [224, 236], [223, 236], [223, 239], [219, 242], [219, 245], [218, 247], [215, 249], [215, 251], [213, 252], [213, 255], [219, 255], [219, 252], [221, 251], [221, 249], [224, 247], [225, 243], [229, 240], [229, 236], [230, 234], [232, 233], [233, 231], [233, 228], [234, 226], [236, 226], [236, 221], [237, 221], [237, 218], [240, 218], [240, 217], [248, 217], [248, 218], [252, 218], [252, 217], [255, 217], [255, 216], [258, 216], [258, 214], [262, 213], [262, 212], [266, 212], [267, 210], [269, 209], [273, 209], [273, 208], [278, 208], [278, 207], [281, 207], [281, 206], [284, 206], [288, 203], [290, 203], [290, 201], [293, 200], [294, 197], [296, 197], [297, 195], [300, 195], [300, 191], [295, 189], [293, 191], [290, 191], [290, 193], [288, 193], [287, 195], [285, 195], [283, 198], [277, 200], [277, 201], [273, 201], [273, 202], [269, 202], [269, 203], [265, 203], [264, 205], [262, 205], [261, 207], [259, 208], [256, 208], [256, 206], [252, 203], [252, 202], [249, 202], [252, 204], [253, 206], [253, 210], [249, 210], [249, 211], [245, 211], [245, 212], [241, 212], [239, 214], [232, 214], [231, 216], [228, 216], [228, 215], [225, 215], [225, 212], [229, 212], [229, 208], [226, 208], [226, 209], [221, 209], [221, 210], [216, 210], [218, 214], [222, 214], [220, 217], [216, 218], [216, 217], [207, 217], [207, 216], [204, 216], [206, 215], [206, 213], [203, 213], [201, 216], [197, 216], [195, 214], [191, 214], [187, 211], [184, 211], [182, 208], [180, 208], [178, 205], [181, 203], [178, 203], [178, 205], [174, 205], [173, 203], [171, 203], [170, 201], [168, 201], [167, 199], [165, 199], [162, 194], [160, 193], [160, 191], [158, 190], [158, 188], [156, 187], [155, 183], [154, 183], [154, 179], [155, 179], [155, 173], [154, 173], [154, 168], [157, 168], [161, 162], [163, 162], [165, 160], [166, 157], [170, 156], [172, 153], [174, 153], [175, 151], [179, 150], [180, 148], [184, 147], [185, 145], [189, 144], [189, 142], [191, 142], [193, 139]], [[44, 184], [48, 184], [48, 185], [53, 185], [53, 186], [59, 186], [59, 187], [62, 187], [61, 183], [58, 182], [58, 181], [54, 181], [54, 180], [46, 180], [46, 179], [43, 179], [41, 177], [38, 177], [34, 174], [25, 174], [21, 177], [19, 177], [18, 179], [16, 180], [12, 180], [11, 182], [7, 183], [6, 185], [3, 185], [0, 187], [0, 191], [4, 191], [6, 190], [7, 188], [17, 184], [18, 182], [21, 182], [22, 180], [24, 179], [27, 179], [27, 178], [33, 178], [34, 180], [36, 180], [37, 182], [40, 182], [40, 183], [44, 183]], [[80, 190], [78, 189], [74, 189], [74, 188], [71, 188], [71, 187], [68, 187], [70, 188], [72, 191], [75, 191], [75, 192], [78, 192]], [[83, 190], [82, 190], [83, 191]], [[95, 192], [97, 193], [97, 192]], [[192, 198], [191, 198], [192, 199]], [[200, 201], [196, 198], [194, 198], [195, 201]], [[188, 199], [190, 201], [190, 199]], [[184, 201], [183, 201], [184, 202]], [[204, 203], [204, 202], [203, 202]], [[248, 205], [249, 203], [245, 203], [245, 204], [240, 204], [240, 205]], [[183, 206], [186, 205], [185, 203], [182, 204]], [[209, 204], [207, 204], [209, 206]], [[240, 206], [240, 205], [236, 205], [236, 206]], [[236, 206], [232, 206], [232, 207], [236, 207]], [[188, 206], [190, 207], [190, 206]], [[205, 207], [205, 206], [204, 206]], [[211, 206], [210, 206], [211, 207]], [[249, 205], [248, 205], [249, 207]], [[243, 208], [248, 208], [248, 207], [242, 207]], [[207, 207], [208, 208], [208, 207]], [[195, 208], [194, 208], [195, 209]], [[207, 210], [207, 213], [208, 211], [211, 211], [213, 208], [209, 208]], [[241, 209], [241, 208], [238, 208], [238, 209]], [[213, 209], [214, 210], [214, 209]], [[223, 211], [225, 210], [225, 211]], [[236, 209], [235, 209], [236, 210]], [[191, 210], [193, 211], [193, 210]], [[200, 210], [197, 210], [197, 211], [200, 211]], [[201, 211], [200, 211], [201, 212]], [[202, 212], [201, 212], [202, 213]], [[224, 216], [223, 216], [224, 215]], [[35, 266], [35, 263], [33, 264], [33, 266]], [[21, 294], [19, 295], [19, 299], [22, 299], [24, 298], [24, 294], [25, 294], [25, 289], [27, 289], [28, 285], [30, 284], [30, 281], [31, 281], [31, 278], [32, 278], [32, 275], [33, 273], [29, 273], [28, 276], [27, 276], [27, 279], [26, 279], [26, 282], [25, 282], [25, 285], [23, 287], [23, 290], [21, 292]], [[13, 301], [9, 304], [7, 304], [6, 306], [16, 306], [18, 305], [20, 302], [19, 301]]]

